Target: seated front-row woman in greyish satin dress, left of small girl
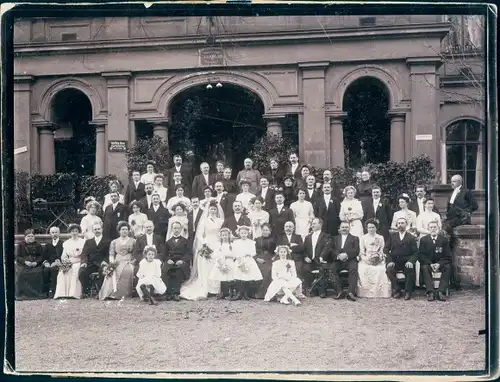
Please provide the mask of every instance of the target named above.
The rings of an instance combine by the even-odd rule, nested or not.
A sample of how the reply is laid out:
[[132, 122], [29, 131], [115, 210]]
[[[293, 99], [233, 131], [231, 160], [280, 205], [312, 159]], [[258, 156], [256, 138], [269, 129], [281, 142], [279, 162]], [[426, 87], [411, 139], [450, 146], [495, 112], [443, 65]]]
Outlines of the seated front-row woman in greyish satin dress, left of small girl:
[[117, 227], [119, 237], [109, 245], [109, 264], [103, 267], [105, 274], [99, 300], [120, 300], [132, 295], [135, 259], [132, 256], [135, 239], [129, 237], [130, 226], [121, 221]]

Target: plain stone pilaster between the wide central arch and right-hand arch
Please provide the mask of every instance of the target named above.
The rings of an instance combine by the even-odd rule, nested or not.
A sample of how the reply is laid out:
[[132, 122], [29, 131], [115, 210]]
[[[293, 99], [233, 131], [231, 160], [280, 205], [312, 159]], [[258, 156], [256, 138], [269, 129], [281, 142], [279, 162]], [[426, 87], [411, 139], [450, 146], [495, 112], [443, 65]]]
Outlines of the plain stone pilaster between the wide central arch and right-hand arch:
[[327, 166], [328, 136], [325, 126], [325, 70], [328, 62], [301, 63], [302, 70], [302, 101], [304, 116], [301, 122], [300, 135], [303, 161], [315, 167]]

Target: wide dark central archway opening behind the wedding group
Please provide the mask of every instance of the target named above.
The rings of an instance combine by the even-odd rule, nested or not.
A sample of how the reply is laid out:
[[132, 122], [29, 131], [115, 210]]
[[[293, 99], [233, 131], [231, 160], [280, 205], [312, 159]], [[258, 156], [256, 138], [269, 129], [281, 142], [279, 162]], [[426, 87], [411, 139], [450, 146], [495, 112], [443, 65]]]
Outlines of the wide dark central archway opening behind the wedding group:
[[[222, 160], [234, 170], [243, 166], [254, 144], [266, 133], [260, 97], [231, 84], [193, 86], [171, 103], [169, 143], [198, 168]], [[235, 174], [236, 171], [233, 171]]]

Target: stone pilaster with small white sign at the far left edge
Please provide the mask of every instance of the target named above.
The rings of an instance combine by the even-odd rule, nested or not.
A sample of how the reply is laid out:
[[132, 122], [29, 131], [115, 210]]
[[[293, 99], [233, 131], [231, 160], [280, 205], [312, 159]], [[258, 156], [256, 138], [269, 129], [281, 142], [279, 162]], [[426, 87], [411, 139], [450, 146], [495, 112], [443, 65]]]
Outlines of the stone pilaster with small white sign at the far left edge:
[[[34, 134], [31, 128], [32, 81], [32, 76], [14, 75], [14, 150], [22, 151], [14, 155], [14, 168], [28, 173], [32, 169], [36, 171], [38, 164], [38, 160], [33, 157], [33, 152], [36, 153], [36, 143], [33, 142]], [[36, 131], [34, 133], [36, 134]]]

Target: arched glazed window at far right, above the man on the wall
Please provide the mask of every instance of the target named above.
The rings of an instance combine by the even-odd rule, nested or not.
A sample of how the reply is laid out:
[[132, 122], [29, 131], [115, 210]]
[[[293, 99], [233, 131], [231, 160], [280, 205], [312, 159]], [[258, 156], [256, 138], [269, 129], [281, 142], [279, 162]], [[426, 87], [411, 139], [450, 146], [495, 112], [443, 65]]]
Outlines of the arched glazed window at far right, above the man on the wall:
[[484, 135], [481, 123], [464, 119], [446, 128], [446, 180], [455, 174], [468, 189], [483, 189]]

